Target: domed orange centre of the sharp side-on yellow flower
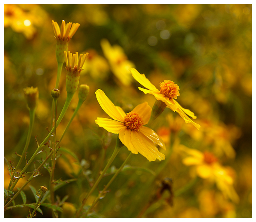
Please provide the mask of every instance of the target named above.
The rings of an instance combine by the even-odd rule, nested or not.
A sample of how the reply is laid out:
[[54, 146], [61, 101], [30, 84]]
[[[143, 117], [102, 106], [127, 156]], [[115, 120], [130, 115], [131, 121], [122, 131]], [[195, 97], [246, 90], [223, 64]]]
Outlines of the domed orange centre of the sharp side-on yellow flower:
[[179, 93], [179, 86], [170, 80], [164, 80], [164, 82], [160, 82], [160, 94], [163, 94], [165, 97], [169, 99], [176, 99]]

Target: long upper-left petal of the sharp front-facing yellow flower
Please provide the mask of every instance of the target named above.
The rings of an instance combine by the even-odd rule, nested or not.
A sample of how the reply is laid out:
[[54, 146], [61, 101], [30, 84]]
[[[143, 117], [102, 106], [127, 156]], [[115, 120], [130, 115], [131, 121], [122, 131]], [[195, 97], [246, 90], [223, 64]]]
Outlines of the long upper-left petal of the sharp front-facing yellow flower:
[[95, 94], [101, 108], [108, 114], [108, 116], [114, 120], [124, 122], [124, 116], [121, 114], [120, 107], [117, 108], [102, 90], [98, 89]]

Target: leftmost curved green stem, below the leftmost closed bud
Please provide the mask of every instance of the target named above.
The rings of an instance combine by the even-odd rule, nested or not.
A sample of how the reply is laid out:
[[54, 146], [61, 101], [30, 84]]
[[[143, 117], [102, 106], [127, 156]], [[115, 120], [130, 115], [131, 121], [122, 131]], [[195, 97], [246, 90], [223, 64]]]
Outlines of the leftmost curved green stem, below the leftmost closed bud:
[[26, 144], [24, 146], [24, 149], [23, 149], [23, 152], [22, 152], [22, 155], [20, 157], [20, 160], [16, 166], [16, 168], [14, 169], [14, 172], [12, 174], [12, 177], [11, 177], [11, 180], [10, 180], [10, 183], [9, 183], [9, 186], [8, 186], [8, 190], [10, 190], [10, 187], [12, 185], [12, 181], [14, 179], [14, 174], [16, 172], [16, 170], [18, 170], [18, 168], [20, 167], [20, 164], [22, 162], [22, 160], [24, 159], [25, 155], [26, 155], [26, 152], [28, 150], [28, 145], [30, 143], [30, 139], [31, 139], [31, 134], [32, 134], [32, 128], [33, 128], [33, 125], [34, 125], [34, 119], [35, 119], [35, 112], [36, 110], [33, 109], [33, 110], [29, 110], [29, 117], [30, 117], [30, 124], [29, 124], [29, 127], [28, 127], [28, 136], [27, 136], [27, 140], [26, 140]]

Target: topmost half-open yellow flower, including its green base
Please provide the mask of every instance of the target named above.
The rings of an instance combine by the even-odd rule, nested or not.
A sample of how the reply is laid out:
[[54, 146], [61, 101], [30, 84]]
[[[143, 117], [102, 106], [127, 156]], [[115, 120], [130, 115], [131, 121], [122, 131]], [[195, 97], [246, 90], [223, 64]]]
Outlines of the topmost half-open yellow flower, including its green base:
[[61, 28], [57, 22], [52, 20], [52, 26], [54, 31], [54, 38], [56, 39], [56, 58], [57, 62], [64, 62], [64, 51], [68, 51], [68, 42], [76, 33], [76, 30], [80, 26], [79, 23], [66, 22], [62, 20]]

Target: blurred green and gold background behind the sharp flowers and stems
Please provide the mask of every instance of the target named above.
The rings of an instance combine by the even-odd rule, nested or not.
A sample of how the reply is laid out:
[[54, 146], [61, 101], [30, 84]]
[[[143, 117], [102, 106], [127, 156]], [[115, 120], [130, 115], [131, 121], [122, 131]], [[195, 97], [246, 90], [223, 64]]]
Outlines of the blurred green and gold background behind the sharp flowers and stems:
[[[157, 88], [165, 79], [178, 84], [180, 96], [177, 101], [194, 112], [197, 116], [195, 122], [201, 125], [197, 131], [192, 125], [182, 123], [177, 136], [180, 144], [210, 150], [221, 164], [234, 169], [234, 188], [240, 200], [238, 203], [220, 201], [218, 189], [202, 179], [175, 196], [175, 190], [192, 180], [180, 155], [173, 152], [162, 162], [148, 162], [138, 154], [132, 156], [129, 161], [132, 167], [118, 175], [110, 192], [99, 201], [90, 216], [252, 217], [252, 5], [4, 5], [4, 156], [14, 165], [18, 162], [15, 152], [22, 152], [29, 124], [23, 88], [37, 86], [39, 89], [28, 157], [36, 150], [36, 140], [42, 142], [48, 134], [47, 127], [50, 127], [50, 92], [55, 86], [57, 73], [52, 20], [59, 25], [62, 20], [78, 22], [80, 27], [70, 40], [69, 50], [89, 53], [80, 84], [88, 84], [90, 93], [61, 144], [78, 160], [70, 153], [60, 151], [55, 173], [56, 179], [75, 178], [76, 181], [56, 192], [60, 199], [68, 195], [66, 202], [79, 206], [88, 191], [88, 182], [96, 178], [102, 167], [101, 158], [104, 158], [105, 165], [112, 154], [116, 135], [108, 134], [95, 124], [97, 117], [106, 117], [106, 114], [94, 92], [102, 89], [125, 112], [144, 101], [152, 107], [155, 101], [152, 95], [144, 95], [138, 90], [140, 85], [135, 80], [124, 86], [117, 78], [100, 45], [102, 39], [107, 39], [112, 46], [122, 47], [126, 55], [124, 60], [131, 61]], [[66, 98], [65, 77], [63, 68], [58, 112]], [[57, 136], [61, 136], [77, 101], [76, 94], [58, 127]], [[178, 116], [170, 112], [166, 109], [152, 125], [166, 140], [166, 152], [171, 149], [169, 138], [177, 126], [166, 120], [169, 115], [174, 119]], [[128, 154], [129, 151], [123, 148], [110, 170], [118, 168]], [[153, 176], [151, 170], [158, 174]], [[4, 172], [4, 186], [7, 188], [10, 176], [6, 165]], [[42, 174], [30, 184], [36, 188], [47, 186], [47, 170], [43, 169]], [[166, 177], [173, 181], [173, 206], [161, 199], [147, 208], [157, 184]], [[102, 180], [99, 190], [109, 179], [106, 176]], [[25, 192], [27, 202], [34, 202], [29, 187]], [[21, 198], [16, 200], [19, 201], [22, 202]], [[212, 210], [205, 209], [208, 204], [214, 206]], [[147, 210], [143, 212], [145, 208]], [[42, 207], [42, 211], [44, 214], [38, 213], [36, 217], [51, 217], [48, 208]], [[28, 208], [5, 212], [5, 217], [27, 215]]]

